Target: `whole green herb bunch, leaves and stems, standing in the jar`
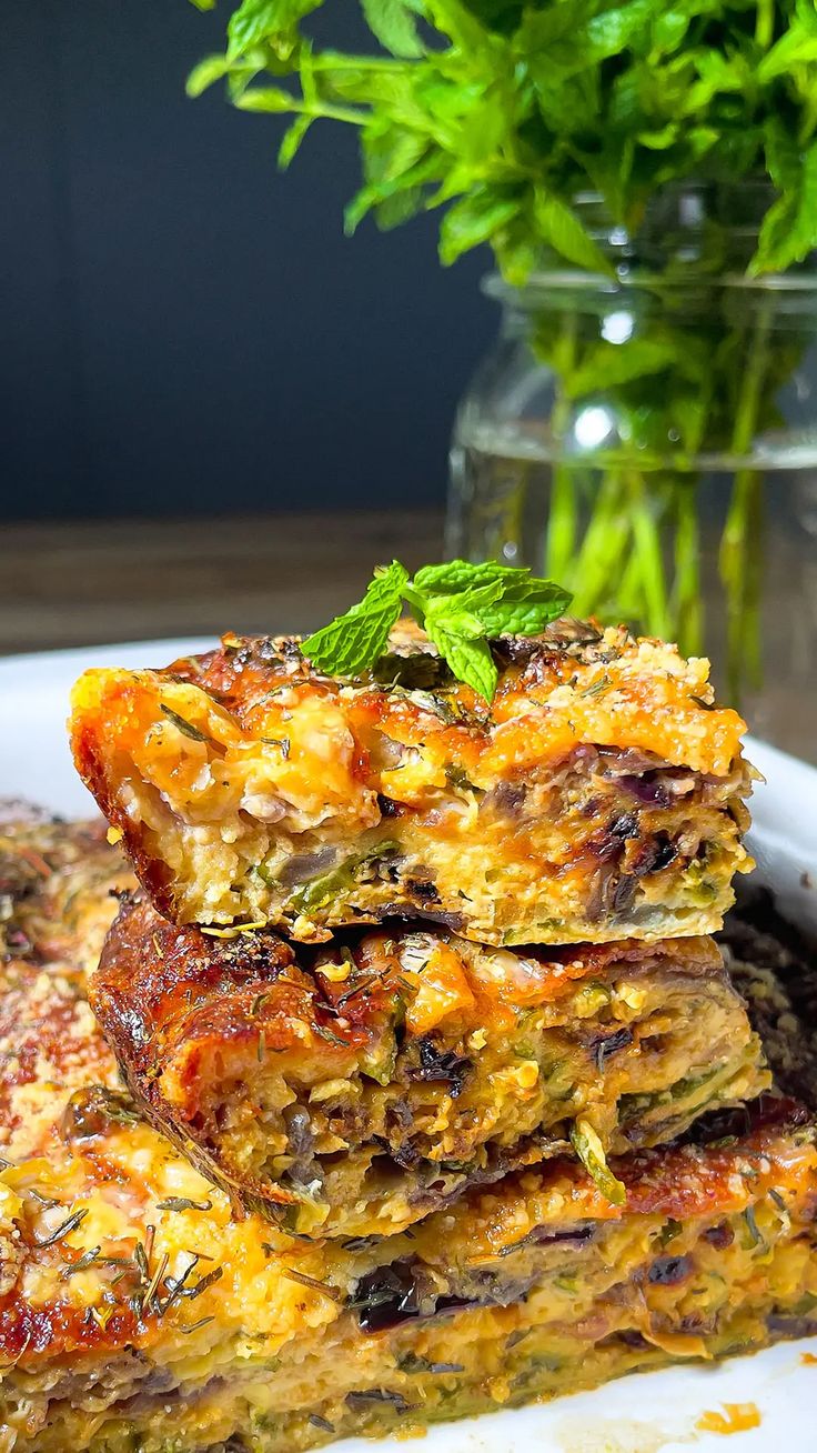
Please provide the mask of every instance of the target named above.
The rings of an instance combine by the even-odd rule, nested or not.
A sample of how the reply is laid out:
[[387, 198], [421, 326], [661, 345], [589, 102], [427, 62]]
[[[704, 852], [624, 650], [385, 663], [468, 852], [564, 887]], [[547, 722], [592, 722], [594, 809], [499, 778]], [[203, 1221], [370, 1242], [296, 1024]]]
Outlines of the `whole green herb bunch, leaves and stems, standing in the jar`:
[[[753, 442], [779, 423], [775, 400], [807, 327], [781, 331], [769, 299], [746, 305], [718, 279], [788, 269], [817, 246], [816, 0], [360, 0], [373, 36], [360, 55], [312, 44], [321, 4], [242, 0], [225, 54], [194, 70], [190, 93], [226, 78], [241, 109], [289, 113], [284, 167], [316, 122], [357, 128], [363, 185], [348, 232], [367, 214], [390, 228], [438, 208], [446, 264], [488, 243], [521, 288], [567, 263], [608, 289], [608, 311], [644, 282], [649, 305], [625, 339], [609, 340], [604, 309], [594, 317], [566, 295], [531, 328], [554, 378], [535, 565], [564, 580], [582, 612], [698, 649], [695, 461], [736, 461], [720, 575], [737, 693], [759, 673]], [[742, 183], [755, 215], [736, 227]], [[691, 185], [705, 199], [692, 247], [666, 211]], [[624, 244], [609, 244], [615, 230]], [[623, 429], [582, 482], [560, 450], [578, 410], [598, 400]], [[530, 516], [521, 498], [512, 507]]]

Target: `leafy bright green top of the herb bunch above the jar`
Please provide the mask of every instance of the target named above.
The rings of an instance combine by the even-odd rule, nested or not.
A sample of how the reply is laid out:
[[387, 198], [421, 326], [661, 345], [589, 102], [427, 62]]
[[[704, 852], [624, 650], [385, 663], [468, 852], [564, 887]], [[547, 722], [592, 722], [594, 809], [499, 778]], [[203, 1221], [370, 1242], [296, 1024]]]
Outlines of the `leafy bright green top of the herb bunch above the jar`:
[[444, 263], [488, 241], [514, 282], [543, 247], [609, 272], [582, 192], [637, 232], [670, 182], [768, 176], [752, 269], [817, 244], [814, 0], [361, 0], [373, 55], [313, 48], [303, 22], [321, 4], [244, 0], [189, 89], [226, 77], [244, 110], [293, 113], [283, 166], [315, 122], [358, 128], [350, 231], [371, 211], [393, 227], [446, 206]]

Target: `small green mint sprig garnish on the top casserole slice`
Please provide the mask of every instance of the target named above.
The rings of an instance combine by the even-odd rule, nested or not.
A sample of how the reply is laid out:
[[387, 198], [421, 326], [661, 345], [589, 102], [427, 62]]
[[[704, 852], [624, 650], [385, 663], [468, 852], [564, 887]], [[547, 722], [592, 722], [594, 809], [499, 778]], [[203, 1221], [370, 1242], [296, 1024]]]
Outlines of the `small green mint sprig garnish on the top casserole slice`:
[[408, 606], [457, 680], [490, 702], [498, 670], [489, 642], [499, 635], [538, 635], [564, 615], [570, 599], [551, 580], [493, 561], [424, 565], [412, 580], [393, 559], [377, 567], [363, 600], [308, 636], [302, 649], [319, 671], [360, 676], [383, 655]]

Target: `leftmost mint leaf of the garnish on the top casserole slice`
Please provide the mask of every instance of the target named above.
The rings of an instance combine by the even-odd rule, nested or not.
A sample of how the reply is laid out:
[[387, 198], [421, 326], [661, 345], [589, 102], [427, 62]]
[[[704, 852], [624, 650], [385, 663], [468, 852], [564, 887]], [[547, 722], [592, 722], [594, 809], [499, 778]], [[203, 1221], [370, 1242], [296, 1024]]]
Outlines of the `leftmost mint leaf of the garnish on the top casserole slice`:
[[357, 676], [373, 665], [401, 615], [408, 578], [396, 559], [376, 572], [363, 600], [303, 641], [302, 651], [312, 665], [337, 676]]

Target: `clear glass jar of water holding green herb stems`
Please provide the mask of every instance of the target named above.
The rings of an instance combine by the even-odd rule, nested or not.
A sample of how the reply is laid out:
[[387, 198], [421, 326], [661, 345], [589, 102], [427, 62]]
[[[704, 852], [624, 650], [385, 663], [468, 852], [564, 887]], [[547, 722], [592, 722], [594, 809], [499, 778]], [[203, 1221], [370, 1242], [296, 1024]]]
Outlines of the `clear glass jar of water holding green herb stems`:
[[707, 654], [755, 732], [817, 761], [817, 273], [747, 276], [752, 218], [705, 202], [636, 243], [591, 227], [609, 278], [486, 279], [502, 321], [457, 413], [447, 551]]

